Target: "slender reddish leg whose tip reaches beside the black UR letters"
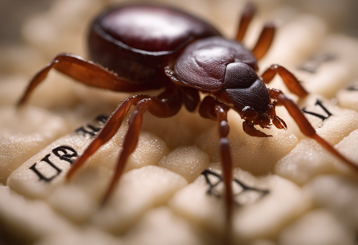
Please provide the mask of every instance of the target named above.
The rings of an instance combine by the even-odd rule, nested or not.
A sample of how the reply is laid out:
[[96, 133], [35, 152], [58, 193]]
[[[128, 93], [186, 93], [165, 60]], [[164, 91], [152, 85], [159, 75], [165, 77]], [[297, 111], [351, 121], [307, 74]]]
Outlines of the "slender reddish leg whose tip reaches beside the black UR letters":
[[125, 119], [128, 110], [131, 105], [136, 105], [140, 100], [149, 98], [146, 95], [132, 95], [126, 98], [113, 112], [112, 116], [107, 120], [106, 125], [103, 129], [97, 134], [96, 138], [92, 143], [87, 147], [83, 154], [72, 164], [72, 167], [69, 169], [66, 178], [69, 179], [73, 174], [79, 169], [86, 160], [93, 155], [98, 148], [106, 144], [118, 131], [122, 125], [123, 120]]

